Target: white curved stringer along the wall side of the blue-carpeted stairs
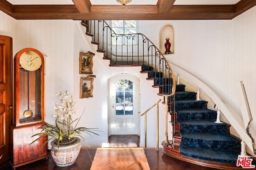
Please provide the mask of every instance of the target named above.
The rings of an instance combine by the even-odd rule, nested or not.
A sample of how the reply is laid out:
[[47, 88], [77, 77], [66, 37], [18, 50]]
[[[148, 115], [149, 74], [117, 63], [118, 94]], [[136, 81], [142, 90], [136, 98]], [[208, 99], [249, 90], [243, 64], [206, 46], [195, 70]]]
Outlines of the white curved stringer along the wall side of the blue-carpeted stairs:
[[252, 156], [256, 156], [253, 152], [253, 145], [252, 145], [252, 139], [247, 135], [246, 130], [244, 129], [244, 126], [241, 125], [238, 121], [236, 121], [236, 117], [232, 115], [232, 112], [228, 107], [222, 102], [222, 100], [218, 97], [216, 93], [210, 87], [208, 87], [204, 82], [196, 78], [194, 75], [190, 74], [186, 70], [183, 70], [182, 68], [176, 66], [175, 64], [170, 63], [170, 66], [172, 67], [173, 72], [177, 75], [179, 73], [180, 78], [185, 80], [186, 82], [200, 87], [202, 91], [204, 91], [209, 98], [212, 99], [212, 101], [218, 106], [220, 109], [221, 113], [225, 116], [228, 117], [229, 123], [231, 127], [236, 130], [238, 135], [240, 136], [240, 139], [244, 140], [244, 142], [247, 145], [247, 148], [249, 150], [246, 150], [249, 154]]

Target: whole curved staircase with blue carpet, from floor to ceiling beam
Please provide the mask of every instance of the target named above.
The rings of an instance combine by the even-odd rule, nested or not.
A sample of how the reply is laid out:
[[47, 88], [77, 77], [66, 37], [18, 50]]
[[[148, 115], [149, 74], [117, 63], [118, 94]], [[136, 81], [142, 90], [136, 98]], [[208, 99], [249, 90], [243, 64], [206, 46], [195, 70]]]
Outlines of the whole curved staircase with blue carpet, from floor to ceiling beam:
[[[81, 22], [85, 27], [91, 24]], [[86, 35], [93, 37], [95, 33], [87, 31]], [[96, 39], [99, 40], [99, 34]], [[100, 42], [94, 38], [92, 44], [99, 46]], [[163, 102], [164, 104], [168, 102], [168, 112], [172, 119], [170, 123], [173, 127], [173, 141], [162, 142], [163, 152], [166, 155], [212, 168], [242, 169], [236, 166], [241, 150], [240, 140], [230, 135], [230, 125], [215, 123], [216, 111], [207, 109], [206, 101], [197, 101], [195, 92], [186, 92], [185, 85], [175, 87], [172, 81], [174, 80], [172, 70], [169, 64], [165, 63], [164, 58], [160, 58], [159, 55], [159, 61], [157, 61], [157, 59], [150, 59], [151, 54], [147, 54], [145, 58], [150, 59], [147, 60], [144, 59], [143, 52], [143, 57], [139, 57], [138, 54], [138, 58], [132, 56], [130, 61], [128, 57], [118, 60], [117, 55], [113, 57], [112, 47], [105, 50], [104, 45], [98, 47], [97, 52], [104, 53], [103, 59], [110, 60], [109, 66], [141, 66], [141, 73], [148, 74], [147, 80], [153, 80], [152, 87], [159, 88], [159, 96], [175, 92], [175, 95], [168, 97], [168, 101]], [[157, 53], [159, 51], [155, 52]], [[142, 58], [143, 60], [140, 60]]]

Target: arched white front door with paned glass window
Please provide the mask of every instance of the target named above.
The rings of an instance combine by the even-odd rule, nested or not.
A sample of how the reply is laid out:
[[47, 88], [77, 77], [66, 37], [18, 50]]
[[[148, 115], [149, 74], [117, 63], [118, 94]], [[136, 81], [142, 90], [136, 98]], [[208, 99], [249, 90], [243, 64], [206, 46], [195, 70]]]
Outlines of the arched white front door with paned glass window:
[[110, 135], [139, 135], [139, 80], [128, 74], [110, 79]]

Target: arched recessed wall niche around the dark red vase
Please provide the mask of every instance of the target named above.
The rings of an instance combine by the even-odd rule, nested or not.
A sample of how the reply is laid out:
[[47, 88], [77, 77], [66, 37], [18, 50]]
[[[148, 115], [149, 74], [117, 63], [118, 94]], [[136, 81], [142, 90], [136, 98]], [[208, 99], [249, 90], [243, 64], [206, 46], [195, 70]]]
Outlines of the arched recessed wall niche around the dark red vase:
[[160, 28], [159, 32], [159, 45], [160, 51], [162, 54], [165, 53], [164, 44], [166, 43], [166, 39], [169, 38], [169, 42], [171, 43], [170, 51], [174, 54], [174, 28], [171, 24], [166, 24]]

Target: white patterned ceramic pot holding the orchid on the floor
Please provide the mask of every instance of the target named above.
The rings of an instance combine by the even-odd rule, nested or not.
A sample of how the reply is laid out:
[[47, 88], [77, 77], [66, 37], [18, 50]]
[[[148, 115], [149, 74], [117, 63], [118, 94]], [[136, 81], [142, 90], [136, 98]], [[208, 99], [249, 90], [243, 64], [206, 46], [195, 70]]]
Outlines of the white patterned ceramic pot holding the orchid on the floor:
[[57, 139], [51, 142], [52, 159], [57, 166], [70, 166], [75, 163], [76, 158], [80, 152], [80, 138], [76, 137], [75, 141], [68, 145], [60, 145], [58, 148]]

